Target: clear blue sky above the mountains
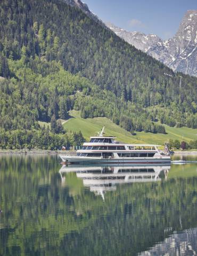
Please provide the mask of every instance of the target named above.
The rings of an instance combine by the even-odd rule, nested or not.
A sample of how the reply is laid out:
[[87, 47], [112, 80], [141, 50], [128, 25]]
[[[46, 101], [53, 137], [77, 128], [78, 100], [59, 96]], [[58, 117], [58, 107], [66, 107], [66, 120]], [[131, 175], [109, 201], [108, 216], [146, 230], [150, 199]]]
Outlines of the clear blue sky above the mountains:
[[103, 21], [129, 31], [173, 37], [187, 10], [197, 9], [197, 0], [83, 0]]

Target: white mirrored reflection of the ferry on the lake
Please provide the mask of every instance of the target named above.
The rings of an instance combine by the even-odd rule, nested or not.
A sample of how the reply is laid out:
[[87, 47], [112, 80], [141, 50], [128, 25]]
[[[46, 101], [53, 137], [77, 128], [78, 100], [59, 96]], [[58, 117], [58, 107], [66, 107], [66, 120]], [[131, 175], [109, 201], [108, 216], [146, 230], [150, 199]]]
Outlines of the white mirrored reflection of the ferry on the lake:
[[116, 190], [116, 185], [133, 182], [154, 182], [161, 180], [161, 173], [167, 179], [170, 165], [63, 165], [60, 169], [62, 184], [65, 174], [75, 172], [83, 184], [104, 200], [106, 191]]

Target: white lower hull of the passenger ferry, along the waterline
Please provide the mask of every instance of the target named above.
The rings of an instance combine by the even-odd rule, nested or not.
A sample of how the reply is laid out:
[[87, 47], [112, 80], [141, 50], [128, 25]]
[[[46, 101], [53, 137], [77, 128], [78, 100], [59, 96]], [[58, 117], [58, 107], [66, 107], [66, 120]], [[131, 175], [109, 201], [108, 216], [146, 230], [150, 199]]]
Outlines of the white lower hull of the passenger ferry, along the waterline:
[[127, 157], [127, 158], [101, 158], [101, 157], [81, 157], [60, 155], [63, 162], [67, 164], [100, 164], [100, 163], [127, 163], [127, 164], [154, 164], [170, 163], [170, 156], [159, 157]]

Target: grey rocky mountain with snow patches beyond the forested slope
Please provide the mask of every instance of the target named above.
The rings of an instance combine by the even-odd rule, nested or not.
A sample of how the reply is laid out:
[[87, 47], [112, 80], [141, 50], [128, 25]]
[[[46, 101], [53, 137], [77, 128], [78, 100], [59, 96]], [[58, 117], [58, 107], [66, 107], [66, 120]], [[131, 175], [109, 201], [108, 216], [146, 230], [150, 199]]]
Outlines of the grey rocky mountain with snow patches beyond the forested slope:
[[157, 35], [129, 32], [106, 23], [114, 33], [174, 71], [197, 76], [197, 10], [184, 15], [176, 35], [162, 41]]

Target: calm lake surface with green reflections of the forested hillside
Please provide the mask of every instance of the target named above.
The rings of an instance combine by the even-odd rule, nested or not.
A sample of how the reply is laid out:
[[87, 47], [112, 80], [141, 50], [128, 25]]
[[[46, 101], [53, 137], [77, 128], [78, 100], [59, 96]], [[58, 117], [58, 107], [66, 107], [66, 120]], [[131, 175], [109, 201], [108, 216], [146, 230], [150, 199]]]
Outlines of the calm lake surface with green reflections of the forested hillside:
[[0, 209], [0, 255], [196, 255], [197, 163], [62, 166], [55, 155], [1, 155]]

